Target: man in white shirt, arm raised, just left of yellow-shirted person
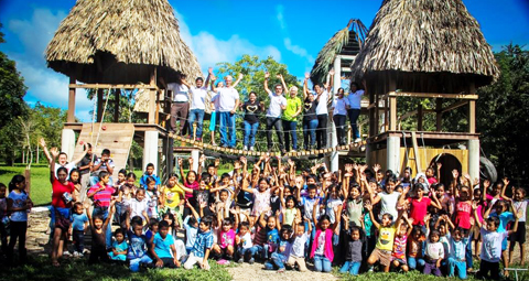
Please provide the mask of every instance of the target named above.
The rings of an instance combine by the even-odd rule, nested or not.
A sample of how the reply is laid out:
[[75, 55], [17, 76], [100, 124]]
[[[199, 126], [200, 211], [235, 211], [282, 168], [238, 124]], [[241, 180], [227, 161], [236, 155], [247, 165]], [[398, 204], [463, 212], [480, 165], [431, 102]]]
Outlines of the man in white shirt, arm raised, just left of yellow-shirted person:
[[276, 133], [279, 139], [279, 149], [281, 153], [285, 153], [283, 145], [283, 128], [281, 127], [281, 114], [287, 108], [287, 99], [283, 97], [283, 86], [277, 84], [273, 89], [276, 93], [272, 93], [268, 88], [268, 79], [270, 78], [270, 73], [264, 74], [264, 90], [268, 93], [270, 98], [270, 106], [267, 110], [267, 142], [268, 151], [272, 150], [272, 128], [276, 128]]

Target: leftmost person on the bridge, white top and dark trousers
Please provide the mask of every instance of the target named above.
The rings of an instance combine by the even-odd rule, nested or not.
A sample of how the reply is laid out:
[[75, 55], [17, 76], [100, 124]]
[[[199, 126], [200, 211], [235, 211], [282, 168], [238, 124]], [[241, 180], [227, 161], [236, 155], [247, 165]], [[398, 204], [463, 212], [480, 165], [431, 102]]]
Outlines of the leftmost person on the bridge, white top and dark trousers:
[[190, 98], [187, 97], [190, 88], [185, 82], [185, 74], [179, 74], [176, 83], [165, 84], [163, 77], [160, 77], [160, 84], [173, 93], [171, 102], [171, 131], [176, 132], [176, 121], [180, 122], [180, 136], [185, 134], [187, 115], [190, 112]]

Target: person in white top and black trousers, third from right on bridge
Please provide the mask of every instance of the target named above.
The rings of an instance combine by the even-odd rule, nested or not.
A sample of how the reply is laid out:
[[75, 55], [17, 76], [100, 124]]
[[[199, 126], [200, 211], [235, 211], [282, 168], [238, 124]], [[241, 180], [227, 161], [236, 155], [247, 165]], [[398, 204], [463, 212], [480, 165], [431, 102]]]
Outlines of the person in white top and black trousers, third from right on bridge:
[[317, 129], [316, 129], [316, 147], [317, 149], [323, 149], [327, 147], [327, 119], [328, 119], [328, 111], [327, 111], [327, 102], [332, 95], [328, 93], [332, 89], [333, 78], [334, 78], [334, 69], [328, 72], [331, 76], [331, 83], [326, 84], [325, 87], [322, 87], [320, 84], [314, 85], [315, 95], [320, 95], [320, 102], [316, 107], [316, 117], [317, 117]]

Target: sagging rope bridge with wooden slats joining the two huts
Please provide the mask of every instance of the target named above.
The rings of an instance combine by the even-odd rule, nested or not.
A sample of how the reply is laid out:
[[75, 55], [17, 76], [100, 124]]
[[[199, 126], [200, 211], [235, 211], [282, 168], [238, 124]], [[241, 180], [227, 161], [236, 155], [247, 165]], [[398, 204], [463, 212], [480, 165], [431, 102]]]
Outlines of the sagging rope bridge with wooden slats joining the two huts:
[[280, 152], [263, 152], [263, 151], [249, 151], [249, 150], [240, 150], [240, 149], [222, 148], [217, 145], [212, 145], [209, 143], [204, 143], [202, 141], [187, 139], [185, 137], [176, 136], [173, 133], [169, 133], [169, 138], [173, 138], [174, 140], [188, 143], [202, 150], [215, 151], [222, 154], [238, 154], [238, 155], [246, 155], [246, 156], [261, 156], [261, 155], [289, 156], [289, 158], [317, 156], [320, 154], [327, 154], [327, 153], [339, 152], [339, 151], [350, 151], [350, 150], [360, 151], [365, 149], [365, 144], [366, 144], [365, 141], [361, 141], [361, 142], [354, 142], [345, 145], [337, 145], [337, 147], [326, 148], [326, 149], [303, 150], [303, 151], [288, 152], [285, 154], [281, 154]]

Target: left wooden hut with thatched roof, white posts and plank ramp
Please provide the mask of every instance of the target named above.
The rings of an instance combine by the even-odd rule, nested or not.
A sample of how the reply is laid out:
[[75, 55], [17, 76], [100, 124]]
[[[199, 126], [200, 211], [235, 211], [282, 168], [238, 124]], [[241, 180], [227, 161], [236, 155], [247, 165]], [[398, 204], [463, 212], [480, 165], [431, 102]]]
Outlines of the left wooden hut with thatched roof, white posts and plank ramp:
[[[154, 163], [158, 171], [163, 162], [168, 164], [164, 172], [172, 170], [172, 161], [160, 161], [160, 156], [172, 155], [161, 152], [172, 151], [173, 142], [168, 130], [160, 126], [159, 112], [170, 108], [164, 106], [163, 98], [168, 95], [156, 95], [162, 91], [158, 77], [170, 83], [179, 74], [194, 79], [202, 73], [196, 57], [180, 36], [174, 11], [166, 0], [78, 0], [61, 22], [45, 55], [48, 67], [69, 77], [63, 151], [73, 156], [76, 142], [91, 142], [97, 154], [105, 148], [111, 150], [115, 171], [119, 171], [125, 167], [136, 138], [143, 144], [143, 166]], [[78, 88], [97, 93], [94, 122], [75, 120]], [[119, 102], [115, 102], [115, 123], [102, 123], [110, 89], [116, 89], [116, 100], [122, 89], [145, 91], [147, 122], [117, 123], [120, 109]], [[105, 93], [108, 93], [106, 99]], [[79, 133], [77, 140], [75, 132]]]

